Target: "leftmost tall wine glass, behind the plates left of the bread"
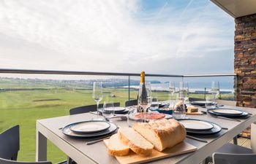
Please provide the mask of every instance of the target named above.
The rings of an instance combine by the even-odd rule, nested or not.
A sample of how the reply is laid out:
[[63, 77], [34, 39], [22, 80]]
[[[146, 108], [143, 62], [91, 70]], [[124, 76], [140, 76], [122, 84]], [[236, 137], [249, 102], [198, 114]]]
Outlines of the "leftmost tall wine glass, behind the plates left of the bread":
[[99, 101], [102, 101], [103, 98], [102, 82], [94, 82], [92, 98], [97, 103], [97, 119], [95, 120], [101, 120], [99, 119]]

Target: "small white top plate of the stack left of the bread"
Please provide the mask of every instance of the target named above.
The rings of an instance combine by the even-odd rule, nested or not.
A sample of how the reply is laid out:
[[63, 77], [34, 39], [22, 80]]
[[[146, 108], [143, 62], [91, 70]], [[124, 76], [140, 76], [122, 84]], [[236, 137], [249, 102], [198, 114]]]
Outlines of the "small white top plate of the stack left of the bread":
[[87, 121], [70, 126], [70, 130], [75, 133], [96, 133], [110, 128], [110, 124], [105, 121]]

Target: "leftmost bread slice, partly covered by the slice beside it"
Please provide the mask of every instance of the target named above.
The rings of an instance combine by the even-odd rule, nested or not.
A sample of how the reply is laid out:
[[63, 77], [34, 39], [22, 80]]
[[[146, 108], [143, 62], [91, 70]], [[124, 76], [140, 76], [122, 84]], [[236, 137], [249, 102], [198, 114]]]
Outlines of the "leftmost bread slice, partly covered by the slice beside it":
[[108, 153], [113, 156], [124, 156], [129, 154], [129, 147], [121, 142], [118, 133], [110, 136]]

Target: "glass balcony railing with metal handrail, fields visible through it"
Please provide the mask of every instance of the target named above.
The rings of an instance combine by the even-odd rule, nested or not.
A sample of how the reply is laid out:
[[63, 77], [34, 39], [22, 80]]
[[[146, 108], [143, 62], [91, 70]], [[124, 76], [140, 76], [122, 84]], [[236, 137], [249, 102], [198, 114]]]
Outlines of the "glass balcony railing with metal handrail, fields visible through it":
[[[52, 77], [60, 79], [83, 79], [83, 77], [119, 77], [125, 79], [126, 87], [106, 87], [105, 94], [115, 93], [113, 101], [120, 102], [136, 98], [138, 91], [133, 89], [134, 79], [138, 79], [140, 74], [116, 73], [116, 72], [94, 72], [94, 71], [51, 71], [51, 70], [28, 70], [28, 69], [0, 69], [0, 131], [10, 128], [12, 125], [20, 125], [20, 153], [18, 160], [34, 161], [35, 147], [35, 122], [47, 117], [58, 117], [69, 114], [69, 109], [76, 106], [94, 104], [91, 98], [91, 85], [85, 83], [69, 82], [69, 80], [53, 80]], [[17, 77], [17, 79], [16, 79]], [[29, 77], [27, 79], [25, 77]], [[31, 78], [32, 77], [32, 78]], [[41, 80], [37, 77], [43, 77]], [[236, 74], [146, 74], [147, 79], [163, 79], [162, 81], [189, 81], [195, 83], [206, 79], [206, 83], [211, 85], [211, 81], [218, 78], [229, 78], [230, 82], [236, 85]], [[233, 80], [233, 77], [235, 78]], [[230, 79], [232, 78], [232, 79]], [[102, 78], [103, 79], [103, 78]], [[78, 80], [79, 81], [79, 80]], [[156, 84], [160, 85], [160, 84]], [[233, 85], [233, 84], [232, 84]], [[204, 89], [206, 86], [203, 85]], [[128, 94], [127, 94], [128, 93]], [[154, 96], [159, 100], [166, 101], [167, 91], [154, 91]], [[192, 93], [191, 96], [201, 96], [203, 93]], [[225, 97], [226, 95], [223, 95]], [[222, 98], [223, 98], [222, 97]], [[233, 98], [233, 93], [227, 94], [228, 98]], [[102, 103], [103, 101], [101, 101]], [[29, 145], [29, 146], [28, 146]], [[65, 160], [65, 155], [53, 144], [48, 145], [48, 158], [56, 163]]]

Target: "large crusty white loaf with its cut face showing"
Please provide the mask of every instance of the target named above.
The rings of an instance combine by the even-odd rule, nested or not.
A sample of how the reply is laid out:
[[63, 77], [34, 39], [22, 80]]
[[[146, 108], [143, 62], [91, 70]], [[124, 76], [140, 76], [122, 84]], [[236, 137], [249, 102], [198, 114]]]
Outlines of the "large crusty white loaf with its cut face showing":
[[175, 146], [186, 138], [184, 126], [173, 119], [137, 123], [132, 128], [151, 142], [154, 149], [160, 152], [167, 147]]

